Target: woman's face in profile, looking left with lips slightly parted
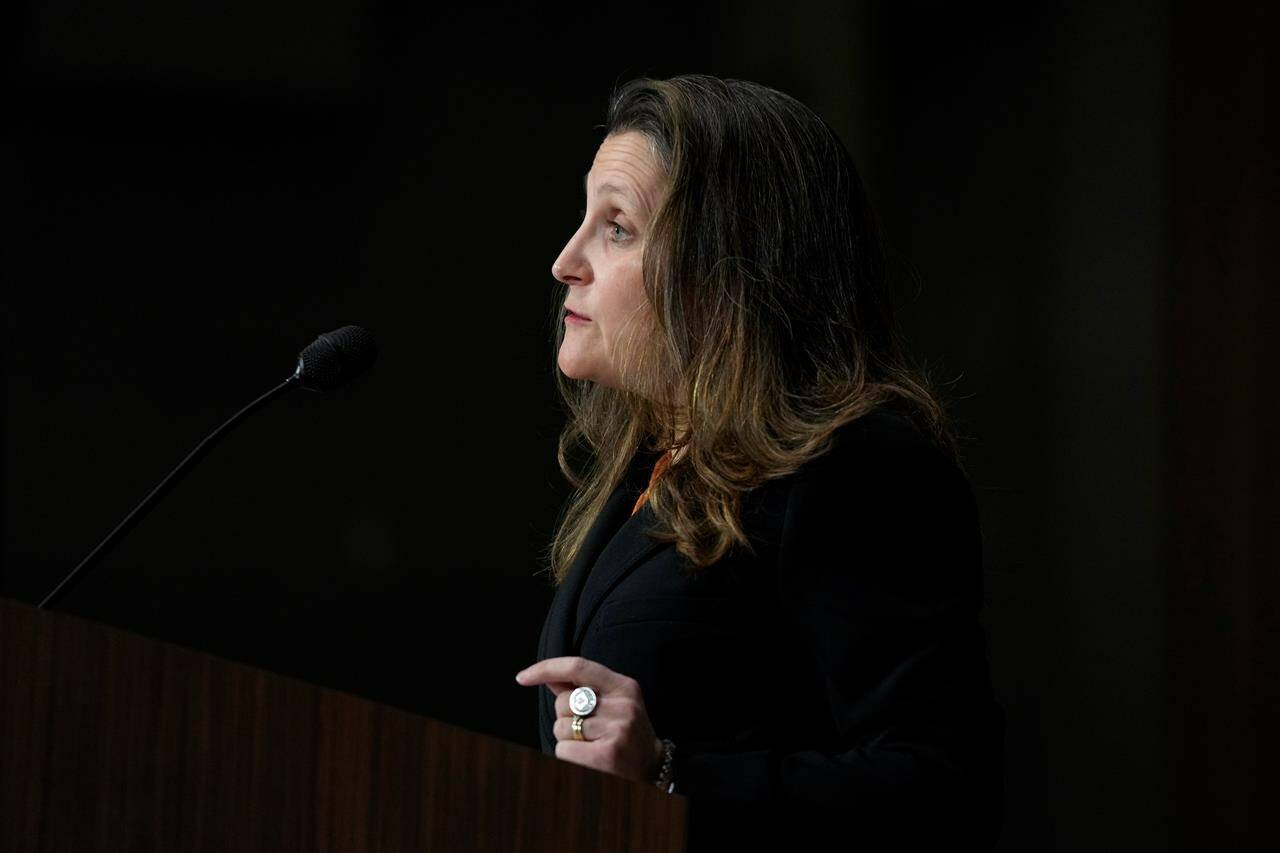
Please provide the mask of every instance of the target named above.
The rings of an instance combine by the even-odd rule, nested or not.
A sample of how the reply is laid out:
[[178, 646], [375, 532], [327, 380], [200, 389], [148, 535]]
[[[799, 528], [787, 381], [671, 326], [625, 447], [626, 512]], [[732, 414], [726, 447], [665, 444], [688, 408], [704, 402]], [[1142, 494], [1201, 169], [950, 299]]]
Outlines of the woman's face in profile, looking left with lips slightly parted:
[[659, 200], [660, 167], [637, 131], [607, 136], [586, 174], [586, 210], [552, 275], [568, 284], [557, 362], [573, 379], [622, 388], [620, 366], [632, 336], [648, 328], [640, 259]]

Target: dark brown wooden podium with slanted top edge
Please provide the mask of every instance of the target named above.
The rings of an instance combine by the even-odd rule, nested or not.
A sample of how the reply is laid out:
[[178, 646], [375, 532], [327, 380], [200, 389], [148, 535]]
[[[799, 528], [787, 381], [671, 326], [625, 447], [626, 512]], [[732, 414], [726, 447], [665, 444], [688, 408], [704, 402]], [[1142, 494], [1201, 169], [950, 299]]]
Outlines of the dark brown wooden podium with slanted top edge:
[[0, 849], [678, 850], [687, 803], [0, 598]]

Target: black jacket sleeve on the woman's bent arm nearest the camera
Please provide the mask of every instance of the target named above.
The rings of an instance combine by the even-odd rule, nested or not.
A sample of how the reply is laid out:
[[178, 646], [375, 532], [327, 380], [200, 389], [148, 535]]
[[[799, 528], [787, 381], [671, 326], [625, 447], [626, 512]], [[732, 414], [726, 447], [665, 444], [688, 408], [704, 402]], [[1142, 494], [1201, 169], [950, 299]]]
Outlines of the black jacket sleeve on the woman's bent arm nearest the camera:
[[[913, 433], [851, 433], [796, 473], [778, 557], [778, 606], [819, 695], [780, 721], [837, 748], [721, 753], [676, 744], [691, 833], [771, 815], [786, 833], [877, 844], [989, 847], [1004, 818], [1004, 710], [989, 680], [982, 535], [968, 479]], [[785, 662], [783, 662], [785, 663]], [[792, 839], [795, 840], [795, 839]]]

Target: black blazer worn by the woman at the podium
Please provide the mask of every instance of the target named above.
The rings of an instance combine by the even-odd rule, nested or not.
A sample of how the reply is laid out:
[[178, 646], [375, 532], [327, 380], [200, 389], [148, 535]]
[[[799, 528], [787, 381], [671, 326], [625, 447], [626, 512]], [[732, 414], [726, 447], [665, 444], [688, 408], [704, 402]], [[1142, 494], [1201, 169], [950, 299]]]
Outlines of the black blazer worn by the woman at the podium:
[[[689, 849], [991, 847], [1005, 715], [988, 672], [982, 534], [965, 475], [900, 414], [744, 498], [753, 556], [700, 578], [649, 539], [639, 451], [543, 625], [538, 660], [636, 679], [676, 744]], [[539, 690], [554, 754], [554, 695]], [[780, 847], [781, 849], [781, 847]]]

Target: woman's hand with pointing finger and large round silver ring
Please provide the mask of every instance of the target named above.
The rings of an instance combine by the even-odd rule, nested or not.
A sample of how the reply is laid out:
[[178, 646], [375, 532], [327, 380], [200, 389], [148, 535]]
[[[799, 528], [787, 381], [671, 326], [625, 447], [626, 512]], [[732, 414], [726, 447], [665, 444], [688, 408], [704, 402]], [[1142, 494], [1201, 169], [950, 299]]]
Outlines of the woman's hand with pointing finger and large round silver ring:
[[[545, 684], [556, 694], [556, 757], [614, 776], [652, 783], [662, 767], [663, 744], [649, 722], [640, 684], [585, 657], [548, 657], [516, 674], [530, 686]], [[568, 697], [577, 686], [595, 690], [596, 706], [573, 739]]]

